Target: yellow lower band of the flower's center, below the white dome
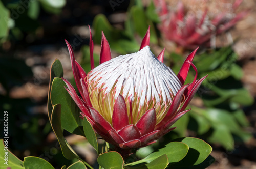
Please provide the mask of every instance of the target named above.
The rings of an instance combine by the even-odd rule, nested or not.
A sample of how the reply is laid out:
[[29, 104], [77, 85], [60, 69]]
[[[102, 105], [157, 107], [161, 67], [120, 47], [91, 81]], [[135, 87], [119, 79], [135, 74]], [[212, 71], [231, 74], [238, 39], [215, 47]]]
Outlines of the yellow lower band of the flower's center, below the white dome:
[[[87, 84], [93, 108], [95, 108], [103, 116], [103, 118], [112, 125], [112, 115], [115, 104], [115, 85], [113, 85], [109, 93], [105, 93], [106, 89], [103, 88], [104, 84], [100, 87], [97, 87], [98, 80], [91, 82], [87, 81]], [[123, 95], [123, 87], [121, 89], [120, 94]], [[173, 94], [171, 95], [173, 100]], [[130, 124], [136, 124], [139, 121], [139, 119], [145, 114], [145, 112], [152, 108], [155, 108], [156, 110], [157, 124], [161, 122], [161, 120], [163, 120], [163, 118], [167, 114], [172, 103], [172, 100], [167, 100], [167, 102], [164, 102], [162, 95], [159, 95], [159, 97], [160, 102], [156, 102], [155, 98], [152, 97], [148, 102], [147, 99], [144, 99], [144, 104], [140, 105], [140, 98], [136, 93], [134, 95], [134, 98], [126, 96], [124, 100], [126, 103], [127, 114], [129, 117]], [[132, 114], [130, 112], [130, 101], [132, 103]], [[180, 106], [182, 105], [182, 103], [183, 101], [180, 103]]]

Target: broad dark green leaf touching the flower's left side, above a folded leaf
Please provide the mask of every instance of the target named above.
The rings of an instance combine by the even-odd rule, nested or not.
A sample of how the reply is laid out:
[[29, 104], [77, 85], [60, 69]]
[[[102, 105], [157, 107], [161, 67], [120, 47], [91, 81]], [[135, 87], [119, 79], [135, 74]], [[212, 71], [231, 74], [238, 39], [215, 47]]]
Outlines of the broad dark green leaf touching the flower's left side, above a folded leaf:
[[70, 133], [84, 136], [80, 109], [69, 95], [65, 82], [61, 78], [54, 78], [52, 82], [52, 105], [61, 104], [61, 127]]

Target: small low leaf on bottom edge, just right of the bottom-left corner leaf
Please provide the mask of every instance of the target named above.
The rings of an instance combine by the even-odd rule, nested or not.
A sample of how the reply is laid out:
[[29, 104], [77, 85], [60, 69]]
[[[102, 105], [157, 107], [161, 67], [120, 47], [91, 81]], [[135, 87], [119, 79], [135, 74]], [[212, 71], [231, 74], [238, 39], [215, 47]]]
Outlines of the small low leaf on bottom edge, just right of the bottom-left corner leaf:
[[54, 169], [48, 161], [39, 157], [25, 157], [23, 164], [26, 169]]

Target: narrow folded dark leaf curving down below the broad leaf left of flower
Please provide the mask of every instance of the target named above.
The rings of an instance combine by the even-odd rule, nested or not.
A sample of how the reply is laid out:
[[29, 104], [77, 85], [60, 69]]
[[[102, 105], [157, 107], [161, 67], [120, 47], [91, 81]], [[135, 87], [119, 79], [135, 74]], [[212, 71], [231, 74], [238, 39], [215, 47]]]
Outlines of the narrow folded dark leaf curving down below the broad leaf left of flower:
[[[75, 151], [72, 149], [72, 147], [69, 145], [67, 140], [64, 138], [63, 131], [61, 128], [60, 117], [61, 117], [61, 105], [56, 104], [53, 106], [53, 110], [52, 110], [51, 125], [52, 125], [52, 129], [58, 139], [58, 142], [60, 144], [60, 148], [61, 148], [63, 156], [67, 159], [76, 158], [76, 159], [83, 161], [80, 157], [77, 156]], [[83, 161], [83, 163], [86, 164], [89, 168], [93, 169], [86, 162]]]

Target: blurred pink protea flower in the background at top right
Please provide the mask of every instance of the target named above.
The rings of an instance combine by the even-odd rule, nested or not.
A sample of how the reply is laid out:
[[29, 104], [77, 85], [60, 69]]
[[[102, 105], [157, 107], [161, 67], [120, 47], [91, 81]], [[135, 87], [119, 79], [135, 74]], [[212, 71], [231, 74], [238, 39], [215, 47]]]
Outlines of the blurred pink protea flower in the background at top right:
[[[207, 5], [206, 1], [203, 0], [186, 1], [188, 9], [184, 7], [182, 1], [178, 2], [175, 9], [172, 9], [168, 8], [165, 0], [154, 0], [161, 20], [159, 29], [166, 39], [174, 41], [182, 48], [195, 49], [197, 46], [215, 47], [216, 36], [228, 31], [248, 13], [248, 11], [234, 13], [243, 0], [236, 0], [233, 4], [227, 4], [223, 1], [212, 1], [215, 4], [210, 5], [215, 6], [215, 11], [220, 11], [215, 13], [209, 11], [208, 7], [203, 11], [202, 9], [192, 8], [193, 6], [203, 7]], [[210, 3], [211, 1], [207, 2]], [[219, 6], [216, 4], [219, 4]], [[227, 6], [220, 7], [220, 4], [222, 6], [231, 5], [231, 8]]]

